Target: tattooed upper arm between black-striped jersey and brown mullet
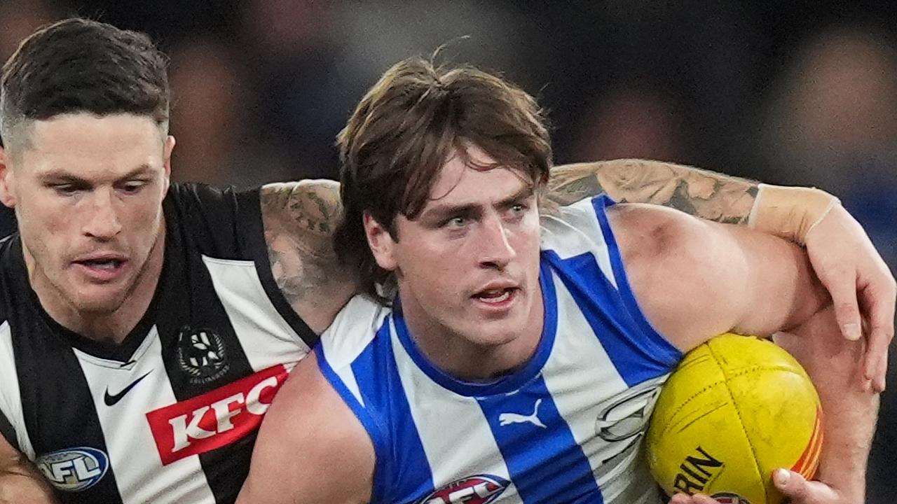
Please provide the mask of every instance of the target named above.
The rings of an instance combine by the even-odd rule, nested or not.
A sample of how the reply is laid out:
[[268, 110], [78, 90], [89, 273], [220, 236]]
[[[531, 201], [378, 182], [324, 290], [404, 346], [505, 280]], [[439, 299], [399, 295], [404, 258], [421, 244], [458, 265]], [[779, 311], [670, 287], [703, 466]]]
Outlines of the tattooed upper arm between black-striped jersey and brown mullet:
[[274, 280], [319, 333], [354, 291], [333, 247], [342, 216], [339, 184], [325, 179], [269, 184], [259, 196]]

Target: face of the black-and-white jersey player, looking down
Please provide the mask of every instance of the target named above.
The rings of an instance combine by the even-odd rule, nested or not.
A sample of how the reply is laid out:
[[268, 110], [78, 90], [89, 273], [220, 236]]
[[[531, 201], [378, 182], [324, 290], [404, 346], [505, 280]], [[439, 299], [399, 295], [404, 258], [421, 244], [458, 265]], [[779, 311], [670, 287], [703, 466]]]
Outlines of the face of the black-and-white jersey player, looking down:
[[174, 139], [150, 117], [35, 121], [4, 152], [0, 196], [19, 221], [30, 282], [45, 303], [111, 313], [162, 254], [161, 201]]

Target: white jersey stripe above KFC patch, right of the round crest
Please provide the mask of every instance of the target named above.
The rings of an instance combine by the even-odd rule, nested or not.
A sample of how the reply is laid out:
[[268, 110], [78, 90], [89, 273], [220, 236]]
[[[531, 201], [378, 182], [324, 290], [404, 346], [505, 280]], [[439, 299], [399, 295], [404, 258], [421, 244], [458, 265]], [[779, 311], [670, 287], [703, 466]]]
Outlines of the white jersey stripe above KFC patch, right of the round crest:
[[[203, 262], [252, 369], [295, 363], [309, 353], [309, 346], [274, 308], [255, 263], [209, 256], [203, 256]], [[259, 335], [266, 344], [258, 344]]]

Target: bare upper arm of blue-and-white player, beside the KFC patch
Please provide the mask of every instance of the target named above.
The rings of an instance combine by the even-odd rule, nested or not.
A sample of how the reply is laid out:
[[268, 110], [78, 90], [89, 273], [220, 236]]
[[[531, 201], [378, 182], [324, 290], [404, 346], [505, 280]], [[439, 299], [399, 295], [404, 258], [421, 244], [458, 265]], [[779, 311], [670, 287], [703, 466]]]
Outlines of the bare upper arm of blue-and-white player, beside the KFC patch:
[[370, 500], [373, 473], [367, 432], [312, 353], [268, 409], [237, 503], [363, 504]]

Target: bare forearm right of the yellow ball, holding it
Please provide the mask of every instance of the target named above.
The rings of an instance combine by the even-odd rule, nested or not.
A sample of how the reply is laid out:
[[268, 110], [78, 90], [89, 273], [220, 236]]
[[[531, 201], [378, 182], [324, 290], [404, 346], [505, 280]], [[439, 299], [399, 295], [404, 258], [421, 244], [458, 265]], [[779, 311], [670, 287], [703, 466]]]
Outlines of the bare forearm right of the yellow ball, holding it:
[[837, 489], [846, 502], [863, 502], [878, 413], [878, 395], [859, 386], [863, 342], [841, 338], [827, 308], [795, 335], [779, 335], [777, 343], [805, 367], [823, 406], [823, 453], [815, 479]]

